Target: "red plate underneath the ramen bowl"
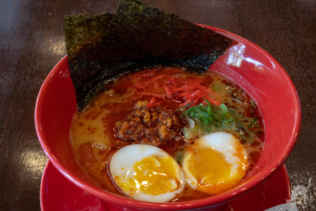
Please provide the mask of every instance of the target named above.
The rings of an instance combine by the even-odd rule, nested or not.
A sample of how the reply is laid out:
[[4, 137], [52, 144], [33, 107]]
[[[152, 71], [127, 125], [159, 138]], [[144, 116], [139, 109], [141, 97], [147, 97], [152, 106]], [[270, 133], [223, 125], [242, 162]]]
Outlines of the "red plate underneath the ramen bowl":
[[[228, 202], [224, 211], [262, 211], [291, 198], [289, 175], [283, 164], [268, 180], [252, 191]], [[47, 161], [40, 186], [42, 211], [118, 211], [102, 199], [91, 195], [64, 177]]]

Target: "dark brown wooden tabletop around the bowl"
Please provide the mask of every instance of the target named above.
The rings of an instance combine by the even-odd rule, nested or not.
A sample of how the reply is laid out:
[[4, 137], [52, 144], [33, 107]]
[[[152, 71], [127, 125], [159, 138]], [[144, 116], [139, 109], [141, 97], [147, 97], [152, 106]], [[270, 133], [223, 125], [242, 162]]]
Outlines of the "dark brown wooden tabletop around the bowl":
[[[34, 127], [41, 84], [66, 55], [64, 15], [113, 13], [119, 0], [0, 1], [0, 210], [40, 210], [47, 157]], [[314, 0], [144, 0], [194, 23], [238, 34], [270, 53], [292, 78], [302, 108], [286, 161], [291, 188], [307, 187], [300, 210], [316, 210], [316, 2]]]

